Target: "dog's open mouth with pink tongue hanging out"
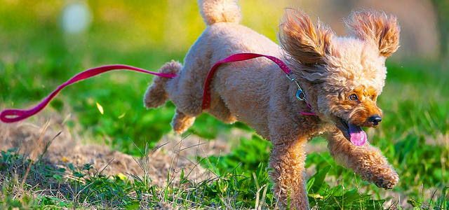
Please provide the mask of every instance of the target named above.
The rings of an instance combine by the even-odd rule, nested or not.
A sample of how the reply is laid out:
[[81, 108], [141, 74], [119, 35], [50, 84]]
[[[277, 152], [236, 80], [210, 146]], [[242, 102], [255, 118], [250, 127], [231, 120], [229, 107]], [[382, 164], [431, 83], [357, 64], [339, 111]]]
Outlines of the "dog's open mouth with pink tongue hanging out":
[[342, 131], [343, 136], [355, 146], [362, 146], [366, 143], [368, 137], [360, 126], [351, 124], [342, 118], [338, 118], [335, 125]]

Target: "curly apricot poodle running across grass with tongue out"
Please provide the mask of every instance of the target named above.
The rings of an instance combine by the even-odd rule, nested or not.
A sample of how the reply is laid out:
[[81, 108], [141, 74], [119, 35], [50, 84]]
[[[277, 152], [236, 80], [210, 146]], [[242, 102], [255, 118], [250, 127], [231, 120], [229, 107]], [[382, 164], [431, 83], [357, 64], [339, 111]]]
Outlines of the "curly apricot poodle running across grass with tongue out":
[[[203, 112], [225, 123], [239, 120], [252, 127], [273, 144], [269, 175], [284, 207], [290, 197], [291, 208], [309, 209], [304, 146], [320, 135], [338, 164], [380, 188], [396, 186], [398, 174], [361, 129], [377, 127], [382, 120], [376, 100], [386, 78], [385, 59], [399, 47], [395, 15], [354, 10], [344, 20], [347, 36], [336, 36], [320, 20], [314, 25], [302, 10], [287, 8], [277, 45], [239, 25], [235, 0], [200, 0], [199, 7], [208, 27], [184, 65], [172, 61], [161, 67], [161, 73], [177, 76], [154, 78], [145, 93], [147, 108], [171, 100], [176, 106], [171, 123], [176, 134], [185, 132]], [[292, 71], [290, 78], [264, 57], [222, 64], [210, 81], [210, 108], [203, 109], [210, 68], [247, 52], [281, 59]], [[302, 100], [297, 94], [303, 94]]]

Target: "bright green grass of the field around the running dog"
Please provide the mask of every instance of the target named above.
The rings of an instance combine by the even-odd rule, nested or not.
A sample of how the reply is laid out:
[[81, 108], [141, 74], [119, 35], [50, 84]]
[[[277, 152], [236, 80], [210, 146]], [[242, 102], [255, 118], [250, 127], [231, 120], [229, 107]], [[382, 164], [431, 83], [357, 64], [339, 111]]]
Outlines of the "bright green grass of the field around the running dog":
[[[100, 14], [101, 5], [92, 3], [94, 14]], [[155, 6], [162, 14], [142, 16], [142, 20], [157, 20], [165, 13], [166, 6]], [[138, 10], [142, 6], [136, 3], [135, 7]], [[32, 8], [0, 2], [2, 109], [37, 104], [74, 74], [93, 66], [119, 63], [156, 71], [171, 59], [182, 60], [190, 44], [164, 48], [163, 44], [158, 45], [163, 35], [157, 34], [163, 25], [149, 27], [147, 33], [156, 35], [149, 38], [152, 41], [145, 41], [147, 38], [142, 35], [133, 36], [145, 34], [138, 31], [139, 23], [133, 22], [133, 29], [129, 29], [126, 22], [119, 21], [119, 29], [130, 31], [116, 33], [111, 29], [114, 22], [100, 18], [93, 20], [85, 34], [68, 36], [60, 31], [57, 21], [36, 23], [34, 18], [40, 16]], [[142, 9], [140, 14], [145, 13]], [[55, 15], [51, 11], [49, 14]], [[199, 20], [190, 19], [196, 23]], [[189, 37], [196, 37], [199, 32], [198, 26], [192, 27]], [[420, 57], [388, 59], [387, 67], [386, 86], [378, 102], [384, 119], [380, 127], [366, 132], [369, 141], [382, 150], [398, 172], [398, 186], [381, 190], [337, 165], [328, 152], [310, 153], [306, 167], [316, 172], [307, 183], [311, 207], [405, 209], [407, 205], [410, 209], [448, 209], [449, 94], [445, 90], [449, 89], [449, 69]], [[174, 114], [170, 102], [160, 109], [144, 109], [142, 96], [151, 80], [152, 76], [132, 72], [108, 73], [67, 87], [47, 109], [60, 116], [72, 113], [73, 118], [66, 122], [70, 132], [81, 130], [99, 144], [106, 139], [112, 148], [142, 157], [139, 163], [147, 170], [145, 165], [150, 163], [145, 159], [149, 151], [145, 142], [152, 148], [170, 132]], [[103, 106], [104, 114], [98, 111], [96, 103]], [[29, 120], [36, 122], [36, 118]], [[215, 139], [234, 128], [250, 132], [242, 123], [225, 125], [203, 115], [188, 133]], [[322, 145], [322, 141], [314, 139], [310, 144]], [[91, 165], [61, 168], [45, 158], [30, 162], [30, 157], [13, 148], [0, 154], [0, 209], [273, 209], [278, 204], [267, 177], [270, 147], [269, 142], [257, 136], [242, 138], [229, 154], [193, 158], [199, 162], [198, 167], [208, 169], [209, 179], [191, 180], [190, 172], [180, 169], [177, 174], [167, 174], [164, 186], [157, 186], [147, 175], [108, 176], [94, 172]], [[30, 163], [29, 175], [22, 185]], [[180, 181], [170, 182], [173, 176]], [[404, 197], [409, 199], [404, 201]]]

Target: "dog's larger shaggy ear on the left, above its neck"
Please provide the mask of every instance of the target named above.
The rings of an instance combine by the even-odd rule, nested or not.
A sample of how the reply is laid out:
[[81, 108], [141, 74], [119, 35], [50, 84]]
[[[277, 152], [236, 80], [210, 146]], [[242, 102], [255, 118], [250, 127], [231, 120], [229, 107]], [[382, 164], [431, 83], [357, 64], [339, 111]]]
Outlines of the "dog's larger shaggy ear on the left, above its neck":
[[301, 64], [311, 66], [323, 63], [328, 53], [333, 31], [318, 20], [316, 27], [304, 11], [287, 8], [279, 25], [279, 43]]

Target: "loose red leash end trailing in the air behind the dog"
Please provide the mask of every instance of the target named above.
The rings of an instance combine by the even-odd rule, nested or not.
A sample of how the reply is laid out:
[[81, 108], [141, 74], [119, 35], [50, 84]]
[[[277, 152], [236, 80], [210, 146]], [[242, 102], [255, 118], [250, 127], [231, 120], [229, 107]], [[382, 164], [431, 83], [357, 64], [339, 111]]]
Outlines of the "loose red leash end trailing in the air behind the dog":
[[[23, 120], [23, 119], [29, 118], [31, 116], [34, 116], [36, 113], [38, 113], [43, 108], [45, 108], [48, 105], [48, 103], [50, 103], [51, 99], [53, 99], [62, 90], [62, 88], [66, 87], [67, 85], [71, 85], [80, 80], [96, 76], [100, 73], [105, 73], [106, 71], [119, 70], [119, 69], [139, 71], [142, 73], [150, 73], [150, 74], [154, 74], [156, 76], [163, 76], [163, 77], [168, 77], [168, 78], [174, 78], [177, 76], [174, 73], [154, 73], [154, 72], [147, 71], [145, 69], [139, 69], [139, 68], [136, 68], [133, 66], [125, 66], [125, 65], [100, 66], [97, 68], [88, 69], [86, 71], [83, 71], [83, 72], [77, 74], [76, 76], [74, 76], [73, 78], [71, 78], [70, 80], [65, 82], [64, 84], [60, 85], [58, 87], [58, 89], [53, 91], [48, 97], [46, 97], [46, 99], [43, 99], [43, 102], [41, 102], [41, 104], [37, 105], [33, 109], [29, 109], [29, 110], [6, 109], [6, 110], [2, 111], [0, 113], [0, 120], [4, 123], [15, 123], [19, 120]], [[15, 117], [10, 117], [10, 116], [15, 116]]]

